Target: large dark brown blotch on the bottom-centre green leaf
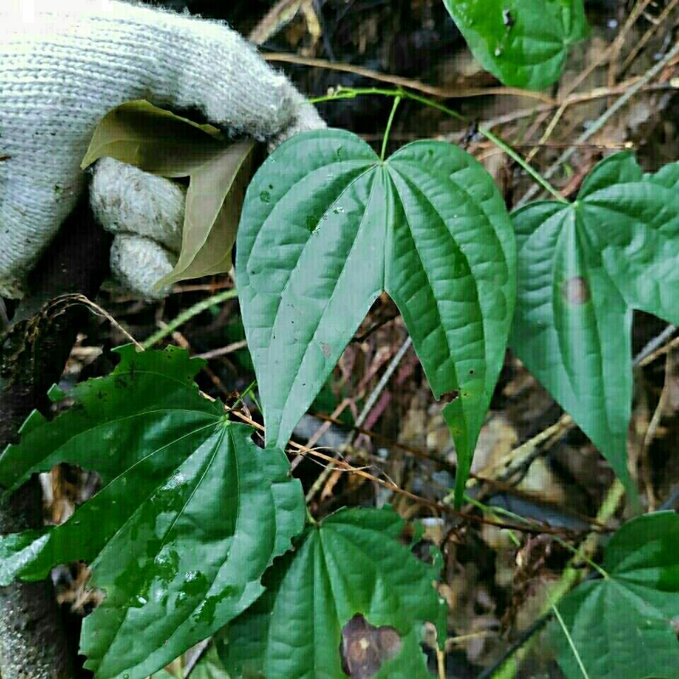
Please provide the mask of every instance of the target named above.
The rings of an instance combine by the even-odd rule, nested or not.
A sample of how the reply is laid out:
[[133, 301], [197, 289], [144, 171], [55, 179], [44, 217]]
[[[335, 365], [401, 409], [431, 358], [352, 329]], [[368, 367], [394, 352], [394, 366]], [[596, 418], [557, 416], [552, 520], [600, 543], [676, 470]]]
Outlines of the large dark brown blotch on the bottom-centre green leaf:
[[342, 627], [342, 671], [352, 679], [370, 679], [382, 663], [397, 656], [401, 646], [401, 637], [393, 627], [375, 627], [356, 613]]

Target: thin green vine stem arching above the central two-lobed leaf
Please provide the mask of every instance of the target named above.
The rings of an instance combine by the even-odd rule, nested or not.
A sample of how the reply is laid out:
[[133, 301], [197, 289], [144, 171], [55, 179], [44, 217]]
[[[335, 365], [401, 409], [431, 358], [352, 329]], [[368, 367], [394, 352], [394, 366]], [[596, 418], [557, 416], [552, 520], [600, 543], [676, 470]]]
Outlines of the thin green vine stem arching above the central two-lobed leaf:
[[[389, 89], [383, 89], [383, 88], [378, 88], [378, 87], [368, 87], [368, 88], [337, 88], [337, 90], [332, 91], [330, 94], [327, 94], [323, 97], [315, 97], [313, 99], [310, 99], [309, 101], [312, 104], [318, 104], [318, 103], [323, 103], [325, 101], [335, 101], [339, 99], [354, 99], [358, 96], [364, 96], [364, 95], [381, 95], [384, 97], [395, 97], [395, 105], [392, 109], [392, 114], [390, 115], [389, 122], [388, 122], [388, 127], [387, 131], [385, 132], [385, 141], [388, 139], [388, 133], [391, 127], [391, 122], [393, 121], [393, 113], [395, 112], [395, 108], [398, 102], [400, 102], [401, 99], [410, 99], [411, 101], [417, 101], [420, 104], [423, 104], [425, 106], [429, 106], [429, 108], [435, 108], [436, 110], [441, 111], [442, 113], [445, 113], [446, 115], [449, 115], [456, 120], [460, 120], [461, 122], [465, 122], [466, 124], [470, 124], [471, 121], [468, 120], [468, 118], [465, 118], [463, 115], [460, 115], [457, 111], [454, 111], [451, 108], [448, 108], [447, 106], [443, 104], [439, 104], [438, 102], [428, 99], [426, 97], [422, 97], [419, 94], [414, 94], [412, 92], [409, 92], [407, 90], [389, 90]], [[555, 197], [559, 202], [565, 203], [568, 202], [556, 189], [553, 187], [550, 182], [547, 182], [547, 180], [540, 175], [538, 170], [535, 170], [532, 166], [530, 166], [529, 163], [526, 162], [525, 158], [522, 158], [514, 149], [509, 146], [509, 144], [506, 143], [506, 141], [503, 141], [499, 137], [497, 137], [496, 134], [493, 134], [490, 132], [488, 129], [484, 129], [482, 127], [479, 128], [479, 133], [482, 134], [488, 141], [492, 141], [493, 144], [495, 144], [499, 149], [504, 151], [510, 158], [512, 158], [513, 161], [516, 161], [519, 166], [521, 166], [526, 172], [536, 181], [538, 184], [545, 189], [546, 191], [550, 192], [552, 196]], [[382, 160], [384, 160], [384, 154], [385, 154], [385, 149], [386, 149], [386, 143], [385, 141], [383, 142], [382, 146]]]

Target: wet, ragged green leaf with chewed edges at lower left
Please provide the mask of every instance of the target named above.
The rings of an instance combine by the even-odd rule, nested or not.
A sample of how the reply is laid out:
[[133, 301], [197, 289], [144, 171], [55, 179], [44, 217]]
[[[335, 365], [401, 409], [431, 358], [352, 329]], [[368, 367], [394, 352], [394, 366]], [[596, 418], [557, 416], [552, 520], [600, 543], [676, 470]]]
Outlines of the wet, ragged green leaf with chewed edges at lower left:
[[172, 348], [119, 352], [110, 376], [77, 385], [53, 422], [34, 413], [0, 458], [11, 489], [61, 461], [102, 479], [62, 526], [0, 538], [0, 584], [88, 562], [105, 599], [84, 623], [86, 666], [98, 679], [141, 679], [260, 596], [305, 508], [284, 454], [261, 451], [199, 393], [202, 361]]

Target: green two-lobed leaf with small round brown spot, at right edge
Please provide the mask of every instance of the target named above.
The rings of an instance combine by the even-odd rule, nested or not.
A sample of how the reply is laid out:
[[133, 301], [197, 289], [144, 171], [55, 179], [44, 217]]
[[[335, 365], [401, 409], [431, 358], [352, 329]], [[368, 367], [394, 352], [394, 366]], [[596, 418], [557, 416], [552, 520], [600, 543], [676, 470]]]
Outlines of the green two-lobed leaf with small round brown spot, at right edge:
[[679, 323], [676, 166], [644, 175], [631, 153], [590, 173], [574, 204], [512, 215], [518, 294], [511, 346], [635, 496], [627, 471], [632, 309]]

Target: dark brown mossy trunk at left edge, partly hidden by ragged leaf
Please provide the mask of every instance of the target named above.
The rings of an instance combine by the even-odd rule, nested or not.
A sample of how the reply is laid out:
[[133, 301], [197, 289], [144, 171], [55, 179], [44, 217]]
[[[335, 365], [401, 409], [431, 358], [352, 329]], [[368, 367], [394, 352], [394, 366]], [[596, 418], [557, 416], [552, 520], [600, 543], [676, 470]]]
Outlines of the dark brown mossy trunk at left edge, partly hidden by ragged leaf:
[[[84, 203], [35, 267], [29, 294], [0, 347], [0, 450], [16, 439], [32, 410], [49, 413], [47, 390], [59, 381], [76, 334], [89, 317], [72, 301], [50, 300], [68, 292], [95, 294], [108, 270], [108, 238]], [[0, 534], [41, 525], [35, 477], [0, 506]], [[78, 632], [67, 634], [49, 579], [0, 588], [2, 679], [73, 678]]]

